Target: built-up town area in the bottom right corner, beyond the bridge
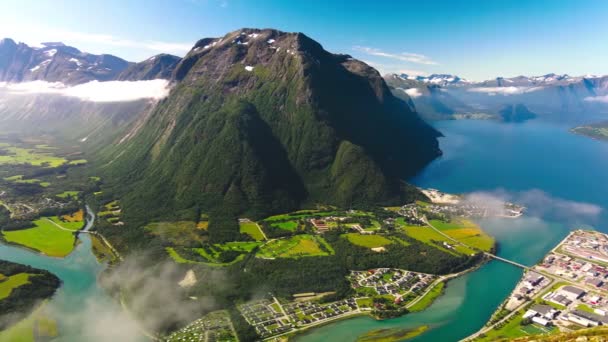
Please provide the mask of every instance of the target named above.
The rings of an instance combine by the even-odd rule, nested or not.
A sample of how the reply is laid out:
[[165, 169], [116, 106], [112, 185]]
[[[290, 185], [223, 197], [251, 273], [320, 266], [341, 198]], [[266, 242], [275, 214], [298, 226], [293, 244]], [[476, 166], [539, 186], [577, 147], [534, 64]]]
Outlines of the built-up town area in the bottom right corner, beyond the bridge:
[[607, 282], [608, 235], [573, 231], [538, 265], [526, 271], [486, 327], [468, 340], [606, 325]]

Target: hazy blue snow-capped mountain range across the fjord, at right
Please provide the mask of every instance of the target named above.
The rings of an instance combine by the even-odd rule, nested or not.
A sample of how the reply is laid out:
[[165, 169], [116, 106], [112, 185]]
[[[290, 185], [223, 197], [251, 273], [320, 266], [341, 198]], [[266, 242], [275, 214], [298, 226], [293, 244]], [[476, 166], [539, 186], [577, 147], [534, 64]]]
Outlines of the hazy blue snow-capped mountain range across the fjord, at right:
[[[554, 120], [593, 120], [608, 113], [608, 76], [547, 74], [473, 82], [455, 75], [389, 74], [396, 96], [411, 98], [425, 118], [496, 117], [510, 105]], [[522, 108], [522, 107], [519, 107]]]

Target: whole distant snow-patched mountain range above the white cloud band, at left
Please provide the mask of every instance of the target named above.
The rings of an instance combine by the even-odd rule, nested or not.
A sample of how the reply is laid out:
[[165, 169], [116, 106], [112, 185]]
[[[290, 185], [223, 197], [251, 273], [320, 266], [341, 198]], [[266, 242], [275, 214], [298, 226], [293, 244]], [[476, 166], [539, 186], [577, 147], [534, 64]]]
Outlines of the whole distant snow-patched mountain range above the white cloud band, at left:
[[47, 81], [67, 85], [89, 81], [169, 78], [180, 58], [158, 55], [141, 63], [94, 55], [63, 43], [30, 47], [10, 38], [0, 40], [0, 82]]

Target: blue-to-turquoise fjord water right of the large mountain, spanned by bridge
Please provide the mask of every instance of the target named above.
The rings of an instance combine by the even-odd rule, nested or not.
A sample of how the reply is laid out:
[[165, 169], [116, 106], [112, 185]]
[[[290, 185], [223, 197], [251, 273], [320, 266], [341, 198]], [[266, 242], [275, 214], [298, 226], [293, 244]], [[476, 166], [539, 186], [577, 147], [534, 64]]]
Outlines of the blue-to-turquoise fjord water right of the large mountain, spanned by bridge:
[[[497, 238], [500, 256], [532, 265], [574, 227], [608, 231], [608, 143], [540, 121], [445, 121], [436, 127], [445, 135], [444, 155], [413, 179], [415, 184], [453, 193], [506, 193], [529, 207], [520, 219], [479, 222]], [[385, 321], [358, 317], [314, 329], [297, 341], [354, 341], [371, 330], [422, 324], [431, 329], [415, 341], [456, 341], [483, 326], [521, 273], [492, 261], [450, 281], [424, 312]]]

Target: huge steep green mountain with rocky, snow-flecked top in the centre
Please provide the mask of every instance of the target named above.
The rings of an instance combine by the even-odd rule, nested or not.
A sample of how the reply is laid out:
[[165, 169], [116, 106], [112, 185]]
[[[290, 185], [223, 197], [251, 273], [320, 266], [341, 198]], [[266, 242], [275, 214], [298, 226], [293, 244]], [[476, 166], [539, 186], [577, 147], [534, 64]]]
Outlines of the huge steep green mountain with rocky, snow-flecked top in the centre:
[[127, 220], [402, 203], [422, 196], [402, 179], [441, 153], [440, 133], [375, 69], [302, 33], [202, 39], [172, 81], [102, 152]]

